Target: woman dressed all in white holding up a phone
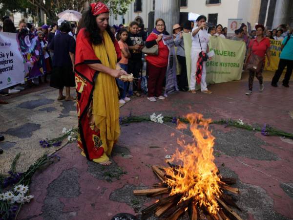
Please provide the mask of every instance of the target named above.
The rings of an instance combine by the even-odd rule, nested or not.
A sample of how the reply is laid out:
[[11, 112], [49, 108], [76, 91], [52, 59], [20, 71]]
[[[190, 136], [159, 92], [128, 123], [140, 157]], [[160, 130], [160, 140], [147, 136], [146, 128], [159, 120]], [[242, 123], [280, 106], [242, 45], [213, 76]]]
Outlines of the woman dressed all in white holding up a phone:
[[[208, 34], [208, 24], [207, 18], [204, 15], [201, 15], [197, 18], [197, 26], [194, 26], [192, 29], [192, 46], [191, 46], [191, 73], [190, 73], [190, 91], [194, 94], [195, 84], [196, 84], [196, 71], [197, 71], [197, 61], [199, 59], [200, 52], [207, 53], [209, 52], [209, 34]], [[201, 91], [205, 93], [211, 93], [207, 88], [206, 83], [206, 62], [203, 62], [202, 66], [202, 75], [200, 81]]]

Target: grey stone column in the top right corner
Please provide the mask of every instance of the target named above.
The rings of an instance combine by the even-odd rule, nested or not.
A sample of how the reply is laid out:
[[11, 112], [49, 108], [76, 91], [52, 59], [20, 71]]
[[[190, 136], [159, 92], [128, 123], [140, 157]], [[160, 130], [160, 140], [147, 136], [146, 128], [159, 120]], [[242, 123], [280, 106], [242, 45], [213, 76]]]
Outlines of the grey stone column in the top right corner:
[[278, 27], [280, 24], [289, 22], [290, 0], [277, 0], [273, 15], [272, 28]]

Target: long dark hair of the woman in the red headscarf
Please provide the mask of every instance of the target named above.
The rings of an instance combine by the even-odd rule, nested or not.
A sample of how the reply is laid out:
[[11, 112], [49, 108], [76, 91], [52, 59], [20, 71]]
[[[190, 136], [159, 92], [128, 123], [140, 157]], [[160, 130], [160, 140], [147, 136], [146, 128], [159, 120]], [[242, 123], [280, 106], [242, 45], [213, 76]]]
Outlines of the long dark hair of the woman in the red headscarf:
[[[78, 26], [78, 32], [80, 31], [80, 29], [85, 28], [85, 31], [88, 33], [90, 42], [95, 45], [102, 44], [102, 41], [103, 41], [103, 38], [100, 35], [101, 30], [97, 25], [96, 18], [97, 16], [92, 15], [91, 7], [89, 6], [89, 8], [83, 13], [83, 17], [81, 19], [80, 25]], [[111, 32], [111, 27], [109, 24], [106, 27], [106, 31], [108, 32], [112, 41], [114, 41], [115, 36]]]

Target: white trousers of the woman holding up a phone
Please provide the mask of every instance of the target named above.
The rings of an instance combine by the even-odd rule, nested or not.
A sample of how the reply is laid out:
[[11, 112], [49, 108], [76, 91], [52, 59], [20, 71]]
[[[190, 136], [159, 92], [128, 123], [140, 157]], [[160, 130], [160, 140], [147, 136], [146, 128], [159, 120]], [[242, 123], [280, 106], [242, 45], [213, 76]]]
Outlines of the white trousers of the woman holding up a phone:
[[[201, 50], [191, 48], [190, 90], [195, 89], [197, 60], [198, 60], [200, 52], [201, 52]], [[200, 82], [200, 90], [205, 91], [207, 89], [208, 88], [207, 88], [207, 83], [206, 83], [206, 62], [204, 62], [203, 63], [202, 78], [201, 78], [201, 82]]]

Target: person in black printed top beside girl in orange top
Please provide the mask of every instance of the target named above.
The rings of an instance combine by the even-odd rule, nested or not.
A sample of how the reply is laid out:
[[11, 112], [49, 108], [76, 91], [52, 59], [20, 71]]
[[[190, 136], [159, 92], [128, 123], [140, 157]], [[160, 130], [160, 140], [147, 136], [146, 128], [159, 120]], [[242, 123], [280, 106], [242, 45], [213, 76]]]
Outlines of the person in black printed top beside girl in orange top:
[[[139, 72], [142, 68], [142, 49], [144, 46], [143, 36], [138, 33], [138, 23], [131, 22], [129, 24], [128, 39], [126, 44], [128, 45], [131, 57], [128, 59], [128, 72], [132, 73], [134, 78], [139, 77]], [[137, 91], [137, 84], [133, 82], [133, 93], [140, 96]]]

